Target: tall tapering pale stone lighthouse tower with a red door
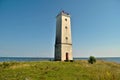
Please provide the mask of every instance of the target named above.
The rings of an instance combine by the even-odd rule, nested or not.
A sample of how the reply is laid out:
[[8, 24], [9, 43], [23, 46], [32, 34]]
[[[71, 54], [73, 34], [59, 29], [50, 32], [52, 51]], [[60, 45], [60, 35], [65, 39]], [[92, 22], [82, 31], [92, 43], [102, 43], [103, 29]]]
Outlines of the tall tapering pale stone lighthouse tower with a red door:
[[73, 60], [70, 15], [64, 11], [56, 16], [55, 60]]

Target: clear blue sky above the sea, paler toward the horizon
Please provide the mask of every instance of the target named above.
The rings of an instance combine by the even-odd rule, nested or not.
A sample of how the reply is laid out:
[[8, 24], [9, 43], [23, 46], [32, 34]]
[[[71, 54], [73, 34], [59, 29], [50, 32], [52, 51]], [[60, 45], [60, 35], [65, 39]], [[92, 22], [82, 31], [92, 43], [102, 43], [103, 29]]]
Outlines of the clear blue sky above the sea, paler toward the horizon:
[[120, 57], [120, 0], [0, 0], [0, 57], [54, 57], [62, 10], [73, 57]]

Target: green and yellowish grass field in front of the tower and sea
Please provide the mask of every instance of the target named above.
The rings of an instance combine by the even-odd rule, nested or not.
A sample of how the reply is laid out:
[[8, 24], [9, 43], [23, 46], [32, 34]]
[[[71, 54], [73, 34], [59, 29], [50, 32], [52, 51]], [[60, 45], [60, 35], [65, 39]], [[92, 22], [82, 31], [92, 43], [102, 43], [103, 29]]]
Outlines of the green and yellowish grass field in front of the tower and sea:
[[0, 80], [120, 80], [120, 64], [75, 62], [1, 62]]

